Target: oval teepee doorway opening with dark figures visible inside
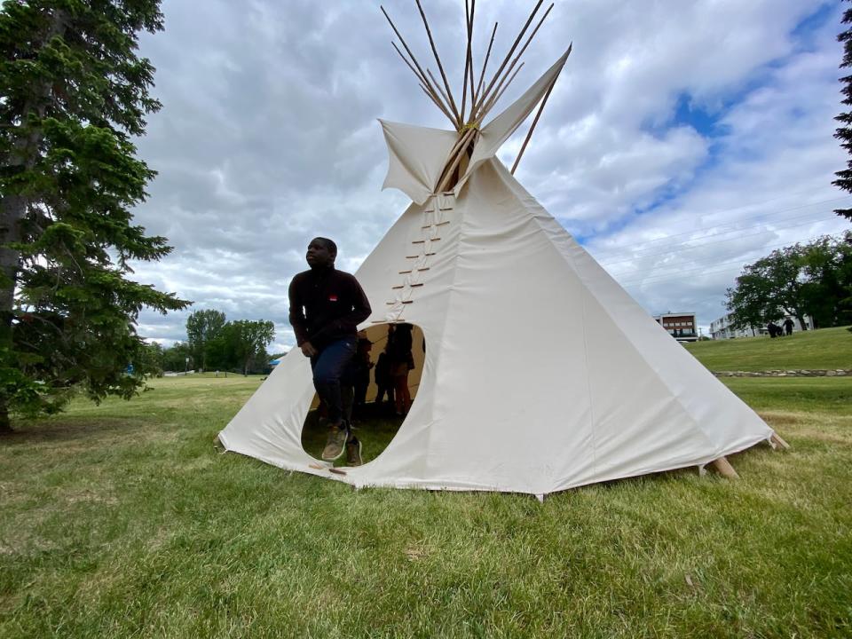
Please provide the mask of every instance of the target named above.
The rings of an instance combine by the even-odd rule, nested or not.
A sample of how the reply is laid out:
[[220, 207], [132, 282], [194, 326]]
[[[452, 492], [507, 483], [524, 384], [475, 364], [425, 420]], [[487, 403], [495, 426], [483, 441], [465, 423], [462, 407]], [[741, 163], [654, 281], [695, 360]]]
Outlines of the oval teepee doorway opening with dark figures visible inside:
[[[359, 332], [358, 352], [343, 386], [343, 412], [362, 443], [364, 463], [382, 454], [405, 421], [420, 388], [425, 360], [421, 327], [397, 322]], [[403, 389], [408, 397], [400, 392]], [[318, 460], [326, 445], [324, 412], [314, 393], [302, 428], [302, 447]], [[345, 465], [345, 457], [337, 463]]]

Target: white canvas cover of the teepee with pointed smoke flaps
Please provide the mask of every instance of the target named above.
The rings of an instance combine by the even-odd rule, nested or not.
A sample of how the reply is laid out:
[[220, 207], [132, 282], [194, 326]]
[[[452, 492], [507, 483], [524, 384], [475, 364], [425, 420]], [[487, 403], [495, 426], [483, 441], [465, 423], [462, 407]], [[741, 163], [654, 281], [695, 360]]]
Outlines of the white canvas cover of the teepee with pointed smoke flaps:
[[452, 191], [435, 187], [467, 130], [382, 122], [385, 185], [413, 203], [356, 273], [363, 327], [406, 321], [428, 345], [390, 446], [344, 474], [305, 453], [314, 390], [295, 352], [219, 434], [227, 450], [355, 486], [545, 494], [774, 437], [494, 157], [567, 55], [477, 131]]

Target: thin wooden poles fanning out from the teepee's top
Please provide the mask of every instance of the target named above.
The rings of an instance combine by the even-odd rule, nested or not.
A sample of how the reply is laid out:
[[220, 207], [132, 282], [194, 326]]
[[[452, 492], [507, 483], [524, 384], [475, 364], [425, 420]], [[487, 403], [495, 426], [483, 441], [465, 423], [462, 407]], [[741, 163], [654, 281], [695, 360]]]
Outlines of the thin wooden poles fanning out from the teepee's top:
[[[430, 68], [427, 67], [425, 71], [423, 70], [423, 67], [417, 59], [414, 58], [414, 53], [412, 53], [411, 49], [408, 47], [405, 38], [403, 38], [402, 34], [399, 33], [399, 29], [393, 23], [393, 20], [390, 20], [388, 12], [384, 10], [383, 6], [380, 7], [384, 17], [387, 18], [390, 23], [390, 28], [392, 28], [394, 33], [397, 35], [399, 42], [402, 43], [403, 49], [405, 49], [406, 52], [403, 53], [400, 51], [397, 43], [391, 41], [393, 48], [397, 51], [399, 57], [406, 63], [406, 66], [411, 69], [412, 73], [417, 78], [422, 91], [429, 96], [431, 101], [435, 103], [435, 106], [438, 106], [441, 113], [446, 115], [447, 119], [453, 124], [455, 130], [459, 132], [459, 139], [450, 151], [444, 171], [438, 179], [436, 192], [445, 191], [448, 187], [454, 185], [461, 178], [464, 170], [466, 170], [469, 157], [473, 153], [473, 146], [476, 143], [479, 127], [482, 124], [485, 115], [487, 115], [493, 106], [497, 104], [503, 93], [509, 89], [509, 85], [511, 85], [512, 81], [515, 80], [517, 73], [524, 67], [524, 62], [521, 62], [520, 64], [518, 64], [518, 62], [521, 59], [521, 56], [524, 55], [526, 48], [531, 42], [533, 42], [533, 37], [538, 32], [541, 24], [548, 17], [548, 13], [550, 13], [550, 10], [553, 9], [553, 4], [551, 3], [550, 6], [548, 6], [547, 11], [543, 13], [540, 20], [535, 25], [535, 28], [533, 28], [533, 31], [530, 32], [529, 36], [527, 36], [523, 46], [521, 46], [520, 50], [518, 50], [518, 45], [520, 45], [521, 41], [524, 40], [527, 30], [533, 23], [533, 20], [539, 12], [543, 2], [544, 0], [538, 0], [535, 4], [533, 12], [530, 13], [529, 18], [527, 18], [524, 24], [524, 28], [521, 29], [517, 38], [515, 38], [515, 42], [509, 49], [509, 53], [506, 54], [506, 58], [503, 59], [500, 67], [498, 67], [497, 71], [492, 75], [491, 81], [486, 84], [485, 71], [488, 67], [488, 60], [491, 57], [491, 48], [494, 43], [494, 36], [497, 34], [497, 23], [494, 22], [494, 28], [491, 32], [491, 40], [488, 43], [488, 50], [485, 52], [485, 59], [482, 63], [482, 69], [479, 72], [479, 80], [477, 81], [473, 64], [473, 21], [476, 13], [477, 2], [476, 0], [465, 0], [464, 12], [468, 37], [464, 59], [464, 75], [461, 81], [461, 108], [459, 108], [458, 103], [454, 98], [453, 91], [450, 89], [450, 83], [447, 82], [444, 65], [441, 64], [441, 59], [438, 56], [438, 48], [435, 46], [435, 40], [432, 38], [432, 32], [429, 28], [429, 21], [426, 20], [426, 13], [423, 12], [420, 0], [414, 0], [414, 3], [417, 4], [417, 9], [423, 20], [423, 27], [426, 28], [426, 35], [429, 36], [432, 54], [435, 56], [435, 63], [438, 65], [438, 73], [441, 76], [442, 83], [438, 83], [435, 75], [432, 75]], [[517, 55], [515, 53], [516, 51]], [[443, 88], [441, 84], [443, 84]], [[526, 146], [529, 143], [530, 138], [533, 136], [533, 129], [535, 129], [535, 125], [539, 122], [541, 111], [544, 109], [544, 105], [547, 103], [548, 98], [550, 97], [550, 91], [552, 90], [553, 84], [550, 85], [548, 92], [541, 100], [539, 111], [535, 115], [533, 124], [526, 134], [524, 144], [521, 146], [521, 150], [518, 152], [515, 163], [512, 166], [512, 173], [515, 173], [517, 164], [520, 162], [521, 156], [524, 154]]]

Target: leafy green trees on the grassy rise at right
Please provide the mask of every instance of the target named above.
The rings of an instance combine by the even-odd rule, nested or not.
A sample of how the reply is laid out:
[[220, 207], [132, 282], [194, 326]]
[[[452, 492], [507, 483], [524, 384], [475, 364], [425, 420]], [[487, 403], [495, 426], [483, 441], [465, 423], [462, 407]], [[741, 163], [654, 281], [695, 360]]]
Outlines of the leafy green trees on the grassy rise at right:
[[727, 307], [739, 328], [765, 326], [785, 313], [803, 329], [806, 315], [814, 328], [852, 323], [852, 232], [780, 248], [746, 264], [728, 289]]

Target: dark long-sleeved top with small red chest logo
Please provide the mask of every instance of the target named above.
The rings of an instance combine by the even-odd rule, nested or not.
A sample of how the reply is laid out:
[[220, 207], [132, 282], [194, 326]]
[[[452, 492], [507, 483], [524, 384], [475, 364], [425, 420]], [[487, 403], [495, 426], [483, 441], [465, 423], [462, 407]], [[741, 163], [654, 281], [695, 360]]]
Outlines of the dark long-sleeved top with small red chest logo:
[[328, 266], [300, 272], [290, 282], [290, 325], [296, 343], [310, 342], [321, 351], [343, 337], [354, 337], [370, 316], [370, 303], [358, 280]]

